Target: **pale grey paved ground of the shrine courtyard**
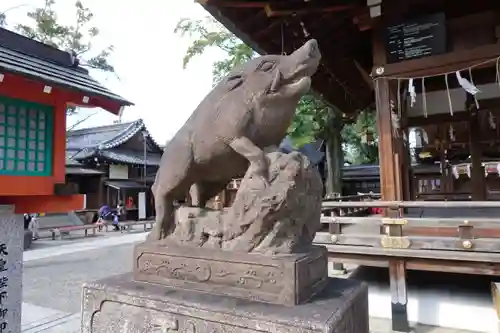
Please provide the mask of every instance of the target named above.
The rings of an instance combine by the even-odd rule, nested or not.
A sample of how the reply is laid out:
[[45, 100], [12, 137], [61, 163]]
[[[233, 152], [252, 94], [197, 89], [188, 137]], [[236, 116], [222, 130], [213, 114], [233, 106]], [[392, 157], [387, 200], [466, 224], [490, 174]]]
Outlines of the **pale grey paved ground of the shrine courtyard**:
[[[23, 332], [77, 333], [81, 285], [131, 270], [133, 244], [144, 233], [108, 233], [73, 241], [42, 240], [25, 252]], [[390, 322], [370, 320], [373, 333], [391, 332]], [[428, 326], [417, 333], [466, 333]]]

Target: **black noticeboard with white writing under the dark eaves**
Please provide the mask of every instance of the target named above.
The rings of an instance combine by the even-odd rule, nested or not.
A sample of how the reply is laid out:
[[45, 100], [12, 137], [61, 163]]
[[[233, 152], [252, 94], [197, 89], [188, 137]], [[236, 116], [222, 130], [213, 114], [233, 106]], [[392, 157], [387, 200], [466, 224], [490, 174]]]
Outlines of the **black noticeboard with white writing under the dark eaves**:
[[386, 32], [389, 63], [446, 52], [444, 13], [392, 25]]

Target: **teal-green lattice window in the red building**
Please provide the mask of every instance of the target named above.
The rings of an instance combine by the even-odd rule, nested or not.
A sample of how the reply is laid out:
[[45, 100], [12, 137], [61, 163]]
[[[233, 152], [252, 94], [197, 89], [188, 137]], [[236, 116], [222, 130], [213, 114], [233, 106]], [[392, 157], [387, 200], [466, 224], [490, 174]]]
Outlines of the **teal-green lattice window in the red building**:
[[0, 175], [50, 176], [54, 108], [0, 96]]

